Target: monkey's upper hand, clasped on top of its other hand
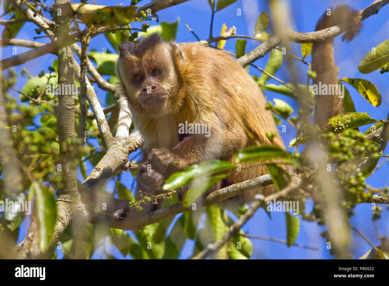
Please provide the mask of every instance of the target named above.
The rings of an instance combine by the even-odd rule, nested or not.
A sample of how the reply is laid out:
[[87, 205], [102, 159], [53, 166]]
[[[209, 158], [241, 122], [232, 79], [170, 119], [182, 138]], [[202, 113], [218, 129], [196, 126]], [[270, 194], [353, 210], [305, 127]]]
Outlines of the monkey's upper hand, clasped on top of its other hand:
[[[154, 148], [147, 154], [151, 168], [161, 174], [169, 176], [173, 172], [184, 169], [180, 164], [180, 158], [166, 148]], [[167, 178], [166, 178], [167, 179]]]

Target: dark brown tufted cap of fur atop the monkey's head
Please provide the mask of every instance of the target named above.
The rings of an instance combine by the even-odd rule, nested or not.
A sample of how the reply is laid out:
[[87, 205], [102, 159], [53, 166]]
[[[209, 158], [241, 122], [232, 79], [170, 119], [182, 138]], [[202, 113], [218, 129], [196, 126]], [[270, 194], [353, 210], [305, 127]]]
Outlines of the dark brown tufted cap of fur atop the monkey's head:
[[121, 56], [125, 54], [133, 54], [134, 56], [140, 56], [147, 48], [154, 46], [155, 44], [165, 42], [167, 43], [159, 33], [152, 33], [148, 37], [138, 39], [135, 42], [123, 42], [119, 48]]

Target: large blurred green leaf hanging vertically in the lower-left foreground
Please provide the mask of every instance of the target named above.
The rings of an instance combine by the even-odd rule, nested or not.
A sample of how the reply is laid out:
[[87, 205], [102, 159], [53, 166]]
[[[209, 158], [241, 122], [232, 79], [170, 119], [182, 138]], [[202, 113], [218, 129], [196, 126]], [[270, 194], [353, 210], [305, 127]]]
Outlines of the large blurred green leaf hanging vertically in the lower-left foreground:
[[37, 196], [37, 217], [39, 221], [39, 247], [45, 251], [53, 239], [57, 209], [54, 196], [45, 188], [41, 188], [38, 182], [31, 185], [32, 191]]

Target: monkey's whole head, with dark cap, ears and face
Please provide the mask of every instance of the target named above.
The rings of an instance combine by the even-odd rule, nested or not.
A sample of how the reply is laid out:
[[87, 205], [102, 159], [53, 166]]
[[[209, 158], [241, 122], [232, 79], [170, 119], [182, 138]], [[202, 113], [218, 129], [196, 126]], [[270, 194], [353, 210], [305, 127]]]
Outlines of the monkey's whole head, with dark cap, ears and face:
[[182, 54], [158, 33], [119, 45], [116, 73], [133, 112], [159, 117], [179, 108]]

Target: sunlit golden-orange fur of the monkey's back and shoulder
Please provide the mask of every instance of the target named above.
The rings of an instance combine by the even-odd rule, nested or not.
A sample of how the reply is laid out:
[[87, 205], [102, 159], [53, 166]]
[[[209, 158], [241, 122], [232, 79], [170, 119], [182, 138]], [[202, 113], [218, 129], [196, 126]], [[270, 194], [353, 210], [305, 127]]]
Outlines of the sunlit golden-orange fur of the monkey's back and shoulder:
[[[263, 135], [277, 132], [277, 127], [272, 114], [265, 109], [265, 96], [246, 70], [227, 51], [197, 43], [181, 43], [179, 47], [184, 56], [186, 74], [189, 75], [184, 79], [184, 84], [189, 90], [201, 91], [200, 94], [197, 92], [188, 96], [194, 102], [204, 101], [207, 108], [216, 113], [225, 109], [221, 105], [228, 104], [261, 144], [271, 144]], [[185, 58], [190, 65], [185, 65]], [[213, 90], [215, 86], [219, 91], [217, 94]], [[202, 111], [201, 108], [199, 110]], [[274, 143], [284, 146], [280, 139], [275, 139]]]

